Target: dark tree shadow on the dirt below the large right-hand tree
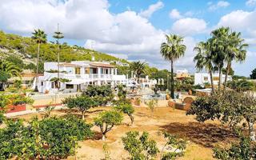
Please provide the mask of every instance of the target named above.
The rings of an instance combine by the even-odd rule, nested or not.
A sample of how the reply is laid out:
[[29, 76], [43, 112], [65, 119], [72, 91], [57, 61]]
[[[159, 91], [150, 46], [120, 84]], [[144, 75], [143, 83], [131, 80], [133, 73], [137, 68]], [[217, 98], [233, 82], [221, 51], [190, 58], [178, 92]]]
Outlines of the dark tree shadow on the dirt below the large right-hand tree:
[[160, 127], [170, 134], [175, 134], [180, 138], [185, 138], [191, 142], [210, 148], [214, 147], [217, 142], [229, 143], [230, 140], [232, 141], [234, 138], [237, 138], [232, 130], [214, 124], [173, 122]]

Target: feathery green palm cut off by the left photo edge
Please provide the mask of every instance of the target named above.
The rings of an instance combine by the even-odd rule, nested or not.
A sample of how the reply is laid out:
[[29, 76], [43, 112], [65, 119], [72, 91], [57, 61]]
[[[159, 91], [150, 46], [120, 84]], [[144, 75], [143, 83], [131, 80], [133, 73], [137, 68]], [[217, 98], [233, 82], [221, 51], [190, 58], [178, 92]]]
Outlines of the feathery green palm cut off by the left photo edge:
[[5, 82], [11, 77], [20, 77], [22, 70], [12, 62], [0, 61], [0, 90], [4, 91]]

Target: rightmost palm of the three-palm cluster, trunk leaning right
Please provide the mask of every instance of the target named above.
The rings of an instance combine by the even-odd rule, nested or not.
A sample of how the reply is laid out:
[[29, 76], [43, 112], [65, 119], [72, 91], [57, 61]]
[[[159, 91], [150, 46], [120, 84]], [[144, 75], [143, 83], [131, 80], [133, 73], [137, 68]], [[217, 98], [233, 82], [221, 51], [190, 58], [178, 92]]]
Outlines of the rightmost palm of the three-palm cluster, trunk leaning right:
[[240, 32], [232, 32], [229, 35], [228, 46], [226, 47], [226, 76], [224, 87], [226, 86], [227, 76], [230, 73], [232, 61], [244, 62], [246, 59], [246, 48], [248, 44], [244, 43]]

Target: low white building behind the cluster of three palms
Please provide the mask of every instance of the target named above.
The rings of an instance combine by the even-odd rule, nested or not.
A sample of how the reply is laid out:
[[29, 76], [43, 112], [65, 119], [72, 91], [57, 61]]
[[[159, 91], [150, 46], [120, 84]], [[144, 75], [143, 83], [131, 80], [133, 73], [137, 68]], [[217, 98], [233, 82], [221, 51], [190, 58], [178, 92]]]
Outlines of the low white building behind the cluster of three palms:
[[[225, 74], [222, 74], [222, 82], [225, 81]], [[213, 74], [214, 85], [218, 85], [219, 77], [218, 73]], [[231, 81], [232, 77], [228, 75], [227, 81]], [[204, 85], [205, 83], [210, 83], [210, 74], [207, 73], [195, 73], [194, 74], [194, 85]]]

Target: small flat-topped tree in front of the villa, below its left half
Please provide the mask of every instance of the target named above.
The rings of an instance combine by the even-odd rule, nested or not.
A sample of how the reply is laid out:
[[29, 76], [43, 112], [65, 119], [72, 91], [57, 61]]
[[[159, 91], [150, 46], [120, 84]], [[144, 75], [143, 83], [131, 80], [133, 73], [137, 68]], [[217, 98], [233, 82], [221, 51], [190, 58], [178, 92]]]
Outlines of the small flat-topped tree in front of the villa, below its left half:
[[75, 108], [82, 113], [82, 119], [85, 119], [86, 111], [91, 107], [98, 106], [98, 102], [94, 100], [94, 98], [90, 98], [87, 96], [76, 96], [65, 98], [62, 101], [63, 104], [70, 109]]

